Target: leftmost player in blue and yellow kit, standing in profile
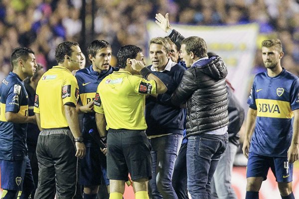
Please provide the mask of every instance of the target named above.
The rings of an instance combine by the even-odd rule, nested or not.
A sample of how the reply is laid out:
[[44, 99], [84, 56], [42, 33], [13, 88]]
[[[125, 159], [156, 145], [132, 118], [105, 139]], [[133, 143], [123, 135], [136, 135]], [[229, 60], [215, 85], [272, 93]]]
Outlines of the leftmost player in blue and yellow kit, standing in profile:
[[[28, 94], [23, 80], [36, 70], [34, 52], [15, 48], [10, 57], [12, 72], [0, 86], [0, 170], [1, 199], [15, 199], [22, 194], [30, 198], [34, 183], [26, 145], [27, 123], [36, 123], [28, 116]], [[22, 193], [23, 191], [23, 193]]]

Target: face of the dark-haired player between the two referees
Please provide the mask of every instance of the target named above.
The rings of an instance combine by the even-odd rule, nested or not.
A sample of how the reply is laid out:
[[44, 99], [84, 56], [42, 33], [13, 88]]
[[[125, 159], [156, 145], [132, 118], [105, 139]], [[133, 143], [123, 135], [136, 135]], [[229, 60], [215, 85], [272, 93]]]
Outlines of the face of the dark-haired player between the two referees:
[[95, 57], [89, 55], [89, 59], [92, 61], [94, 70], [108, 71], [111, 62], [111, 56], [111, 48], [101, 48], [97, 51]]

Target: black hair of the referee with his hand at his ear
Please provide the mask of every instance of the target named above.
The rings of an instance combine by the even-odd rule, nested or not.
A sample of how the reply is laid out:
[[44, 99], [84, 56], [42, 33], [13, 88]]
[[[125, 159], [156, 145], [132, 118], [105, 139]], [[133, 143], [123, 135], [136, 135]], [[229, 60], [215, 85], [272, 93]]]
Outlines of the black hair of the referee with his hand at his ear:
[[135, 59], [138, 53], [141, 53], [142, 49], [135, 45], [122, 46], [117, 53], [117, 62], [120, 68], [126, 68], [127, 59]]

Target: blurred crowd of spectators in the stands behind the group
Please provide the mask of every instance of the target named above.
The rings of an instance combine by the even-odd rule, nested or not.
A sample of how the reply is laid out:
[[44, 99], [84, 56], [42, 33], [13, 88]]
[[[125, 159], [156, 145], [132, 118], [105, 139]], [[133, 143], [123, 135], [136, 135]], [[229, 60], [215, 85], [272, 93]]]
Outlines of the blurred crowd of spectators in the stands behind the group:
[[[260, 37], [282, 40], [282, 66], [299, 75], [299, 0], [85, 0], [85, 15], [81, 10], [83, 2], [0, 0], [0, 80], [11, 70], [10, 54], [18, 46], [32, 48], [37, 63], [45, 70], [57, 64], [55, 48], [64, 40], [87, 46], [94, 39], [104, 39], [112, 45], [114, 55], [126, 44], [140, 46], [147, 52], [146, 22], [154, 20], [158, 12], [169, 12], [170, 23], [179, 24], [257, 22]], [[81, 34], [83, 25], [85, 38]], [[85, 53], [86, 49], [81, 49]], [[114, 59], [112, 65], [116, 64]], [[258, 47], [253, 73], [263, 70]]]

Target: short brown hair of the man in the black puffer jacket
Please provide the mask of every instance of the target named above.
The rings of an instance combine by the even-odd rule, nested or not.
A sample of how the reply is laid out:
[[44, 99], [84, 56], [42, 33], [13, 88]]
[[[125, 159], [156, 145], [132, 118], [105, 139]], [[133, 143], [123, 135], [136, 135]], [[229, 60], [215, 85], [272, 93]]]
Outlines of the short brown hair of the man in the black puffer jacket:
[[188, 54], [193, 52], [199, 58], [207, 57], [207, 44], [203, 38], [191, 36], [185, 38], [181, 45], [185, 44], [185, 50]]

